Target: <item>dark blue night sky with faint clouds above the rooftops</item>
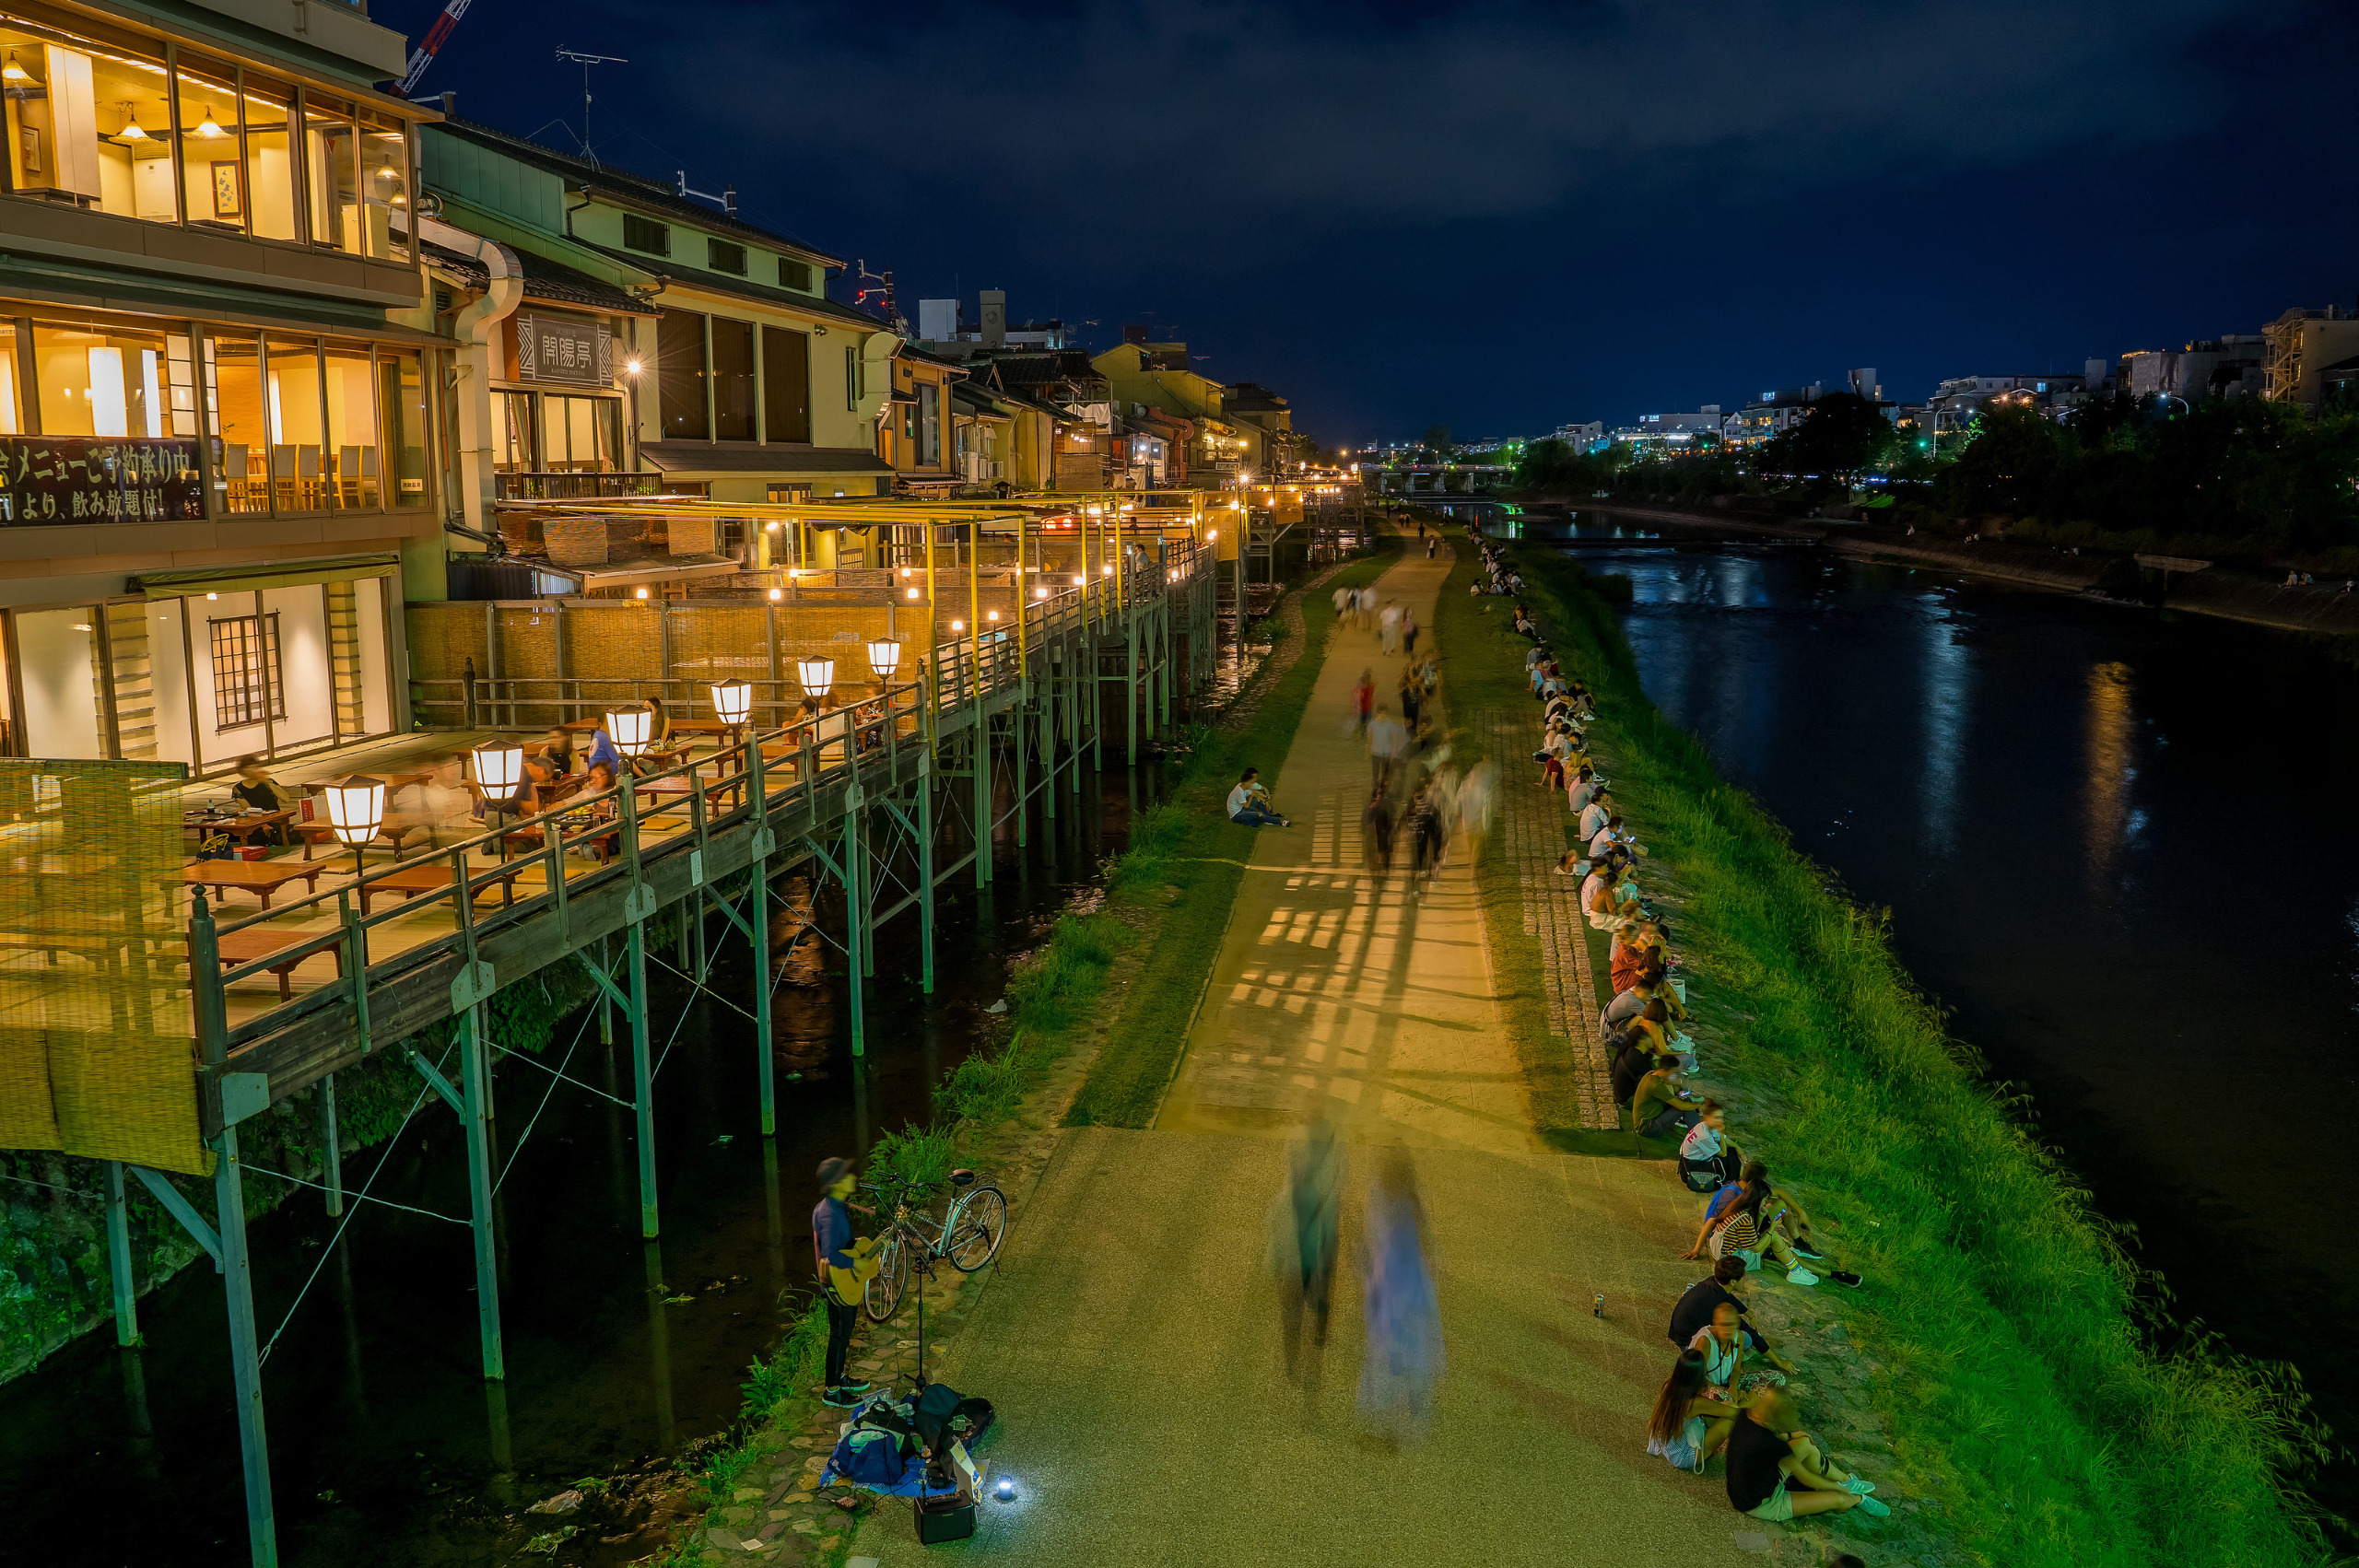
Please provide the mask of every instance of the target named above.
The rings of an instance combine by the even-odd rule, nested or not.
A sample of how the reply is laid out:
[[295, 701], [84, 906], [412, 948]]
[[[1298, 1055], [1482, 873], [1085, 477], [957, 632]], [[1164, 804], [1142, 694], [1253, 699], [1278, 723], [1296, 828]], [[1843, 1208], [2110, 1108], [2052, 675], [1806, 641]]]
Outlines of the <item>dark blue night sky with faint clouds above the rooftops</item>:
[[1330, 443], [1918, 401], [2359, 297], [2352, 5], [479, 0], [418, 92], [573, 151], [554, 47], [630, 59], [602, 160], [734, 182], [911, 318], [1144, 321]]

